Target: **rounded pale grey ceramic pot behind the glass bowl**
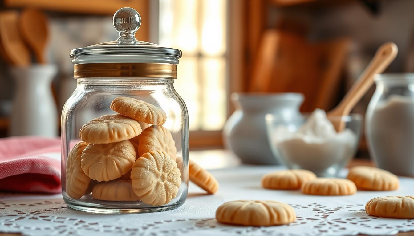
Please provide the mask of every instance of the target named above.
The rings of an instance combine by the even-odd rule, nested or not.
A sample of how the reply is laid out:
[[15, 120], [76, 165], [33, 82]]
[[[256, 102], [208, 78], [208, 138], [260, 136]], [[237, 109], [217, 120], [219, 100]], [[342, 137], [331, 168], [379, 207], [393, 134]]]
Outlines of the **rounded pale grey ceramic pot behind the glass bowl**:
[[303, 94], [233, 93], [231, 101], [236, 107], [223, 129], [224, 144], [244, 163], [280, 164], [272, 155], [267, 138], [265, 115], [285, 118], [300, 116]]

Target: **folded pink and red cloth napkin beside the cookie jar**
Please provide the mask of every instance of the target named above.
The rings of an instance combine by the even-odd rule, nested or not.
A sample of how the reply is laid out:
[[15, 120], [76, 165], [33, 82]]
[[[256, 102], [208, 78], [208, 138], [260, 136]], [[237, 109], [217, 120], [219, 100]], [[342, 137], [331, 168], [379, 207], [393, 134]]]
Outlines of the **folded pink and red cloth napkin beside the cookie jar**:
[[60, 138], [0, 138], [0, 191], [59, 193]]

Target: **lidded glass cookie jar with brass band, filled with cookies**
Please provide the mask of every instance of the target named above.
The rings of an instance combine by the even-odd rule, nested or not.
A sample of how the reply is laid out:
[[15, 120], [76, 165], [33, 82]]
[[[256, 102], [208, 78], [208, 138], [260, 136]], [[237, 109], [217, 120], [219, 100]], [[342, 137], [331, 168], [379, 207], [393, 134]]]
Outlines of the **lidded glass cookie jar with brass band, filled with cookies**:
[[171, 210], [188, 191], [188, 112], [173, 82], [181, 51], [137, 41], [118, 10], [116, 41], [70, 52], [77, 88], [62, 112], [62, 193], [87, 212]]

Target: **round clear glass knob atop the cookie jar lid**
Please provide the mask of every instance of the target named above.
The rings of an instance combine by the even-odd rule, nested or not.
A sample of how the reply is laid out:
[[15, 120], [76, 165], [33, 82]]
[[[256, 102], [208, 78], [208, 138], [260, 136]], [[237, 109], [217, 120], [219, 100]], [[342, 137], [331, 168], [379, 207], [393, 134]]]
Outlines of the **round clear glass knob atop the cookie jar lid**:
[[113, 27], [119, 32], [120, 43], [138, 43], [135, 32], [140, 26], [140, 14], [131, 7], [123, 7], [113, 15]]

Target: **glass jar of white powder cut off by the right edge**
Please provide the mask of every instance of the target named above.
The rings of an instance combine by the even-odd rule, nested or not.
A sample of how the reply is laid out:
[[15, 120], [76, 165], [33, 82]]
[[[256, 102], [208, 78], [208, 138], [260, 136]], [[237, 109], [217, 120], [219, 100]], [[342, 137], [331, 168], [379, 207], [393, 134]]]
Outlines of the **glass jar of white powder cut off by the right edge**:
[[378, 167], [414, 175], [414, 74], [378, 74], [366, 112], [366, 137]]

